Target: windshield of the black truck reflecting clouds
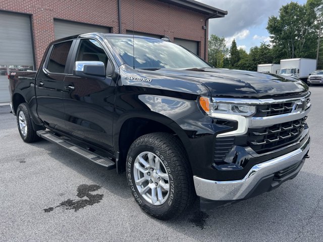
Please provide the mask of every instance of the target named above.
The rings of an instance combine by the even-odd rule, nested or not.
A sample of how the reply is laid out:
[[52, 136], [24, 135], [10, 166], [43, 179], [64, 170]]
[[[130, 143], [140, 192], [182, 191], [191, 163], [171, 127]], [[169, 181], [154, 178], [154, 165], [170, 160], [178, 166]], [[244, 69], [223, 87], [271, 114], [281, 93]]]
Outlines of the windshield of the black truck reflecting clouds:
[[109, 36], [107, 38], [123, 61], [130, 67], [152, 70], [161, 68], [191, 69], [210, 67], [195, 54], [172, 42], [135, 37], [134, 58], [132, 37]]

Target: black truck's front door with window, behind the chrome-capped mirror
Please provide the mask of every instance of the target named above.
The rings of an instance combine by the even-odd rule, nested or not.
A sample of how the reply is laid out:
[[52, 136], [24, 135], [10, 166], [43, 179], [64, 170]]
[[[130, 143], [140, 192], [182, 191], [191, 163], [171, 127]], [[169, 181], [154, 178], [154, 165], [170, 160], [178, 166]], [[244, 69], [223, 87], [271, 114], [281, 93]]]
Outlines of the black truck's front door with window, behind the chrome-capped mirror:
[[101, 43], [95, 39], [80, 39], [72, 57], [74, 61], [100, 61], [106, 68], [103, 80], [67, 75], [64, 80], [66, 126], [74, 136], [105, 150], [113, 148], [113, 115], [115, 82], [113, 67]]

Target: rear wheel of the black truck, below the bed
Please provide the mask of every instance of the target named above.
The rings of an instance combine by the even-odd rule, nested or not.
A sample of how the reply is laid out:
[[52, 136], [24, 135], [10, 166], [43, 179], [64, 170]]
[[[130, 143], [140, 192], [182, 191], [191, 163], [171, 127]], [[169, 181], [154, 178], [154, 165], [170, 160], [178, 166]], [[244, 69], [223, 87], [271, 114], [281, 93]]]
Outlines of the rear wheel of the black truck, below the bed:
[[[36, 134], [30, 117], [29, 107], [26, 102], [21, 103], [17, 108], [17, 126], [19, 134], [24, 142], [32, 143], [40, 138]], [[35, 126], [40, 130], [42, 127]]]

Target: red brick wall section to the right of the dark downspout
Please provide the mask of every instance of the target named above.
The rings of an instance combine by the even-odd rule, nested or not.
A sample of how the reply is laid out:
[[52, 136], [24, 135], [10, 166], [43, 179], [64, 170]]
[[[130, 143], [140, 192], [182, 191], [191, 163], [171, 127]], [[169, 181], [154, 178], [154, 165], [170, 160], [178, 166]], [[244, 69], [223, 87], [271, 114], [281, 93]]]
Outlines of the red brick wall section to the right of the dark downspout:
[[157, 0], [122, 0], [121, 11], [123, 33], [134, 25], [137, 32], [199, 41], [199, 55], [204, 58], [205, 15]]

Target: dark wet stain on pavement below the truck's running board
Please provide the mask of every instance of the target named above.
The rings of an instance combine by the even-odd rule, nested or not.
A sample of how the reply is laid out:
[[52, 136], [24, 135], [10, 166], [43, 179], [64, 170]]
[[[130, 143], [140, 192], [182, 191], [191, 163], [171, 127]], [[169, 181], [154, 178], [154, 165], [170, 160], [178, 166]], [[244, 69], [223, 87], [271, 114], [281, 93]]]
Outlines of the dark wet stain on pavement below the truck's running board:
[[[85, 208], [86, 206], [92, 206], [93, 204], [99, 203], [102, 198], [103, 194], [91, 194], [90, 192], [95, 192], [99, 190], [101, 187], [98, 185], [86, 185], [82, 184], [77, 188], [77, 195], [79, 198], [84, 198], [87, 197], [88, 199], [80, 199], [80, 200], [71, 200], [68, 199], [66, 201], [63, 201], [60, 203], [60, 205], [56, 206], [55, 208], [58, 207], [63, 207], [66, 210], [72, 210], [78, 211], [81, 208]], [[53, 207], [49, 207], [44, 209], [45, 212], [51, 212], [53, 211]]]

